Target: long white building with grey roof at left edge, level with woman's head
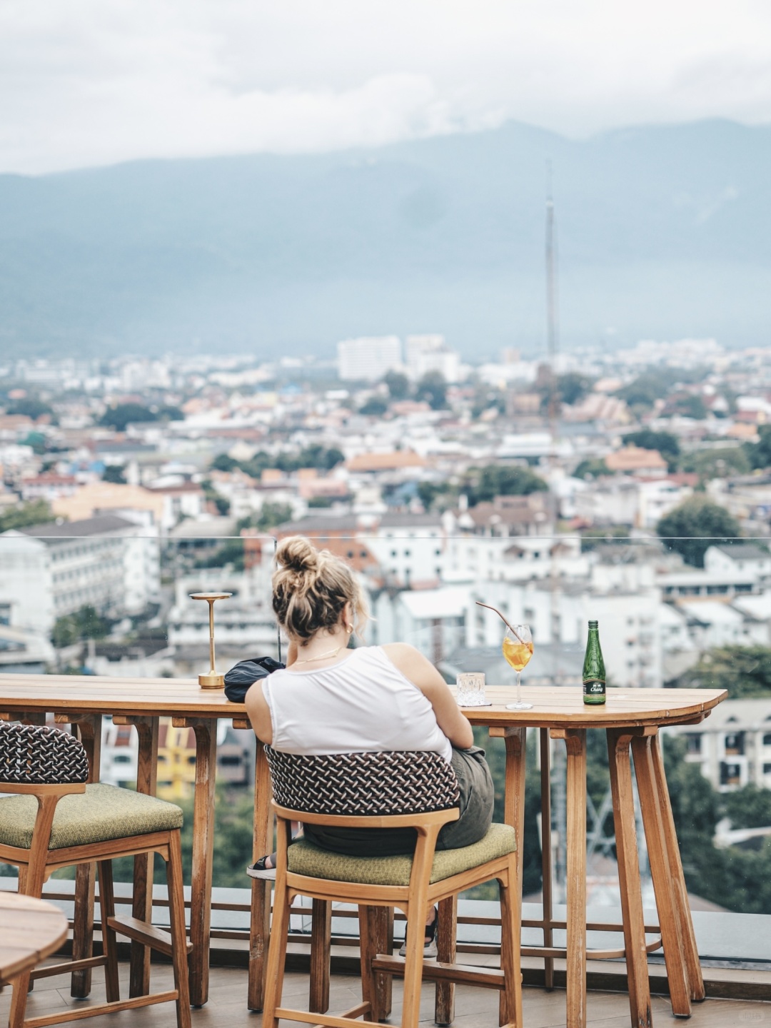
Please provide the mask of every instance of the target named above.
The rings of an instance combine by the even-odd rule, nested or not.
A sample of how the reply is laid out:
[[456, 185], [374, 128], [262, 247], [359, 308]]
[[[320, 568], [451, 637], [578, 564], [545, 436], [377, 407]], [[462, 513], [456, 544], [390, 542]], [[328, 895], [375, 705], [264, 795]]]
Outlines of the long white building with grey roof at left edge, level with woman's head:
[[157, 537], [113, 514], [0, 537], [0, 605], [19, 627], [47, 635], [57, 618], [86, 605], [139, 614], [159, 593]]

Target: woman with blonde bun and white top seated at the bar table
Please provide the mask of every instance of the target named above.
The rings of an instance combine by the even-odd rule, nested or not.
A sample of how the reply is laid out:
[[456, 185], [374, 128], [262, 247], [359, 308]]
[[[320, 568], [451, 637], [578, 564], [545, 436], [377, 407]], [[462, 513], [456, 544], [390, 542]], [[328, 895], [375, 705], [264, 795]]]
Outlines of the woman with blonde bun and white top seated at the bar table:
[[[250, 689], [247, 710], [257, 736], [290, 754], [433, 750], [451, 764], [461, 794], [458, 820], [445, 824], [438, 849], [469, 846], [492, 818], [493, 788], [484, 751], [447, 684], [414, 647], [392, 642], [351, 649], [368, 614], [351, 568], [302, 537], [283, 540], [273, 575], [273, 611], [289, 637], [287, 667]], [[414, 851], [413, 829], [327, 829], [305, 838], [354, 856]], [[249, 869], [274, 877], [273, 854]], [[271, 874], [272, 872], [272, 874]], [[433, 949], [435, 912], [427, 920]]]

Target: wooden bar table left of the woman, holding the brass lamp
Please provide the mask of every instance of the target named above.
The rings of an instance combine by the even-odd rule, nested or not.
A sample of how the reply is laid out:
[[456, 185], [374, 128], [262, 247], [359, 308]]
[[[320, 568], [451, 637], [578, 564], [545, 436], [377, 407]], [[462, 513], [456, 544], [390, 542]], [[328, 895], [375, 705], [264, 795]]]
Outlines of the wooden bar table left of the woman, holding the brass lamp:
[[[89, 780], [99, 780], [102, 718], [111, 714], [115, 724], [134, 725], [139, 734], [137, 788], [155, 794], [158, 756], [158, 719], [171, 718], [178, 728], [195, 733], [195, 794], [193, 853], [190, 896], [190, 1002], [200, 1006], [209, 998], [209, 938], [212, 901], [212, 853], [214, 848], [214, 786], [216, 776], [217, 720], [235, 718], [244, 724], [243, 703], [231, 703], [221, 690], [201, 689], [194, 680], [112, 678], [98, 675], [0, 674], [0, 718], [28, 724], [43, 724], [52, 713], [58, 724], [77, 726], [88, 755]], [[258, 747], [261, 751], [262, 747]], [[256, 844], [263, 843], [267, 823], [269, 779], [257, 760], [261, 787], [267, 796], [257, 803]], [[266, 784], [265, 784], [266, 783]], [[262, 885], [263, 883], [260, 883]], [[253, 889], [254, 891], [254, 889]], [[264, 889], [262, 890], [264, 893]], [[269, 897], [269, 892], [268, 892]], [[264, 903], [264, 895], [263, 895]], [[134, 916], [149, 920], [152, 908], [152, 864], [135, 858]], [[94, 871], [78, 868], [75, 897], [73, 954], [91, 955], [94, 927]], [[149, 985], [149, 951], [132, 945], [130, 992], [142, 995]], [[86, 996], [90, 971], [73, 976], [72, 993]]]

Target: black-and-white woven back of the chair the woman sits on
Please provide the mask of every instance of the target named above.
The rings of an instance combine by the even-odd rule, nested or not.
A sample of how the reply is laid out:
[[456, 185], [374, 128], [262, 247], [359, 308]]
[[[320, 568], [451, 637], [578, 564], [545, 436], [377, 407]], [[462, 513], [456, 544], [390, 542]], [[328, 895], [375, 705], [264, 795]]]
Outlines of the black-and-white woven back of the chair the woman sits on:
[[451, 766], [439, 754], [390, 751], [306, 757], [265, 746], [273, 799], [314, 814], [384, 816], [456, 807]]

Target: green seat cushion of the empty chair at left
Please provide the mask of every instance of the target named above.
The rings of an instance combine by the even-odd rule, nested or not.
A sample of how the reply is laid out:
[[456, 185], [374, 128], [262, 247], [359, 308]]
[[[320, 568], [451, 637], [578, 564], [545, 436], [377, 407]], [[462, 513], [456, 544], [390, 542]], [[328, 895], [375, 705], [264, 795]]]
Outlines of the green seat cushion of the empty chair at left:
[[[0, 800], [0, 844], [29, 849], [36, 815], [34, 796]], [[179, 828], [182, 811], [175, 804], [99, 783], [86, 785], [85, 793], [62, 797], [53, 814], [48, 848], [64, 849]]]

